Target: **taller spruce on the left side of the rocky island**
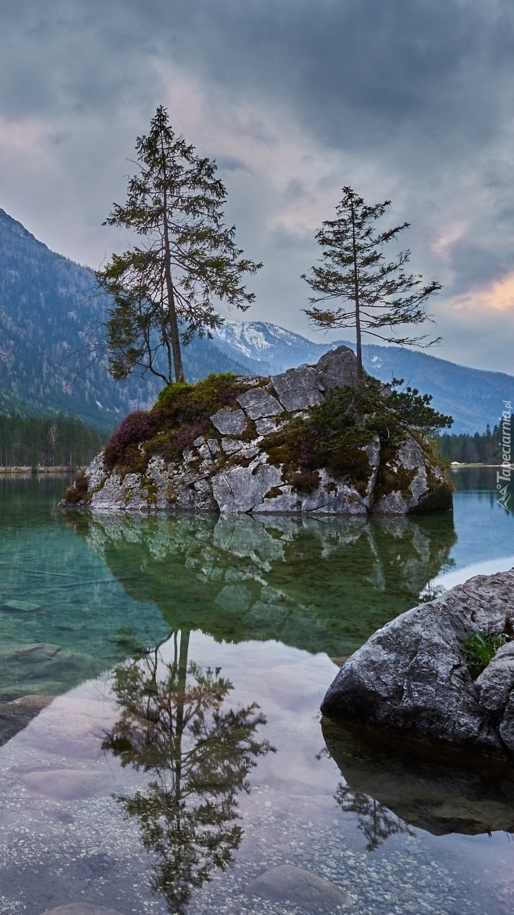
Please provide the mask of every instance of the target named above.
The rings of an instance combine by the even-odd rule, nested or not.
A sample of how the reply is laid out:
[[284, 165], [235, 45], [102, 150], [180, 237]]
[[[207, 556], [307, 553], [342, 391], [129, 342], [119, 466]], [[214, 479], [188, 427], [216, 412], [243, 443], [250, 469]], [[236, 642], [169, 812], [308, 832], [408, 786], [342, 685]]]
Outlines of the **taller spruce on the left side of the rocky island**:
[[112, 254], [96, 274], [112, 296], [104, 325], [110, 372], [118, 380], [150, 371], [166, 383], [184, 381], [181, 343], [220, 326], [220, 301], [246, 310], [254, 294], [242, 275], [262, 264], [241, 256], [235, 227], [224, 225], [227, 192], [215, 162], [175, 135], [162, 105], [135, 149], [139, 169], [126, 203], [114, 204], [104, 225], [142, 242]]

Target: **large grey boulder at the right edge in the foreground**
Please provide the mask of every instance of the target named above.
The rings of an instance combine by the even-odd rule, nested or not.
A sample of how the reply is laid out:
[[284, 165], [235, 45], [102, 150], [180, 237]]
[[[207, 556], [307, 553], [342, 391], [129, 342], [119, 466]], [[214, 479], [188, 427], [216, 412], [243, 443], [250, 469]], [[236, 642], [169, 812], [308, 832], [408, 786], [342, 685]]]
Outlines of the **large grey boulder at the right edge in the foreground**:
[[[321, 710], [414, 738], [514, 754], [514, 569], [470, 578], [375, 632], [341, 668]], [[507, 639], [473, 680], [470, 635]]]

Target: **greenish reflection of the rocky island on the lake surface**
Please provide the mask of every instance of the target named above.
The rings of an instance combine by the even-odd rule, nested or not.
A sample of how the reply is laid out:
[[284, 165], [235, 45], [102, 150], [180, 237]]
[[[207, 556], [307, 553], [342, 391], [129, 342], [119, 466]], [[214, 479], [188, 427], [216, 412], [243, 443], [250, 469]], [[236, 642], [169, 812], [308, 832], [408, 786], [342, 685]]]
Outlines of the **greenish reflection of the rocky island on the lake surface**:
[[[423, 518], [70, 516], [126, 593], [173, 630], [348, 654], [448, 568], [451, 512]], [[137, 575], [134, 572], [137, 571]]]

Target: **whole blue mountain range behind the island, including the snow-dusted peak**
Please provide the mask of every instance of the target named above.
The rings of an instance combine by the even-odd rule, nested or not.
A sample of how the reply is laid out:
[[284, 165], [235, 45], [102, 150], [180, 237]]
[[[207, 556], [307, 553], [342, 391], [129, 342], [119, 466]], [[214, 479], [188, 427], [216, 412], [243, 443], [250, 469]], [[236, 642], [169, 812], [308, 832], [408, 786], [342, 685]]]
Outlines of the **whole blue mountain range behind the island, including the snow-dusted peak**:
[[[73, 414], [103, 428], [154, 403], [161, 384], [114, 382], [95, 338], [108, 303], [93, 272], [50, 251], [0, 210], [0, 413]], [[184, 350], [187, 379], [210, 371], [273, 374], [316, 363], [345, 340], [314, 342], [265, 321], [226, 321], [213, 339]], [[364, 365], [382, 381], [400, 377], [434, 395], [435, 409], [452, 414], [455, 432], [494, 425], [503, 401], [514, 398], [514, 378], [480, 371], [399, 347], [365, 346]]]

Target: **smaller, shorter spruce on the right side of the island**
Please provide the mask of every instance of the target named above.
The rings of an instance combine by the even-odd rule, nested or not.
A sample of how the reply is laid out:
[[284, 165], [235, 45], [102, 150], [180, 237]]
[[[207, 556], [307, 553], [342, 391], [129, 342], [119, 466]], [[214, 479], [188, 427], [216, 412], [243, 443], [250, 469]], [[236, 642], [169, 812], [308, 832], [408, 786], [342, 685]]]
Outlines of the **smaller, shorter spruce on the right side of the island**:
[[[410, 260], [410, 251], [385, 260], [384, 245], [410, 225], [403, 222], [393, 229], [376, 231], [374, 223], [389, 206], [391, 200], [369, 206], [352, 188], [343, 188], [337, 219], [323, 222], [316, 233], [323, 249], [321, 265], [313, 266], [310, 274], [302, 274], [315, 293], [309, 297], [312, 307], [305, 308], [305, 314], [320, 328], [355, 328], [359, 378], [364, 377], [364, 333], [401, 346], [431, 346], [441, 339], [397, 332], [405, 325], [433, 320], [424, 303], [442, 287], [435, 282], [423, 285], [420, 275], [405, 274], [403, 267]], [[331, 300], [343, 304], [327, 307]]]

